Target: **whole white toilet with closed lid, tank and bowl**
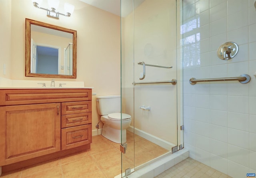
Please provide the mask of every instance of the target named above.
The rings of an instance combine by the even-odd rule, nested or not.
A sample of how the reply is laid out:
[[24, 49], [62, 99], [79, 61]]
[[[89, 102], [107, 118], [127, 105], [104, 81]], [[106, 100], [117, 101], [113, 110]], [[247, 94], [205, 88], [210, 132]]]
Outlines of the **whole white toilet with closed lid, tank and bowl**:
[[[96, 97], [97, 109], [103, 125], [102, 135], [108, 140], [121, 143], [121, 96], [99, 96]], [[122, 113], [122, 143], [126, 142], [126, 129], [132, 118]]]

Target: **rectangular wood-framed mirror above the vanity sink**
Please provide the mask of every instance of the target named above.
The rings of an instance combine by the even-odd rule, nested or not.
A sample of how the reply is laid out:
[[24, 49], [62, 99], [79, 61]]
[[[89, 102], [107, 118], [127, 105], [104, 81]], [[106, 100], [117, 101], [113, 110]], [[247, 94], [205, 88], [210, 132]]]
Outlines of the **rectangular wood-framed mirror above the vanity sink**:
[[26, 18], [25, 76], [76, 78], [76, 30]]

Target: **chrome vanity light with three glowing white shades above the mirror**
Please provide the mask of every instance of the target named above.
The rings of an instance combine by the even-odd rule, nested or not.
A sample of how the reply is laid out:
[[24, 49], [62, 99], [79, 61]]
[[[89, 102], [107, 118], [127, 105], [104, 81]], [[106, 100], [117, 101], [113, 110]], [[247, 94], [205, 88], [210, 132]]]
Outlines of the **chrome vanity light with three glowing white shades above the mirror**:
[[47, 17], [52, 17], [52, 18], [59, 19], [59, 14], [63, 15], [63, 16], [70, 17], [71, 14], [74, 12], [74, 6], [72, 4], [68, 4], [66, 2], [64, 4], [64, 10], [65, 10], [66, 14], [62, 14], [60, 12], [57, 12], [56, 10], [57, 10], [57, 8], [60, 4], [59, 0], [48, 0], [48, 5], [49, 5], [50, 9], [42, 8], [40, 6], [42, 4], [42, 0], [32, 0], [32, 2], [33, 2], [34, 6], [36, 8], [46, 10], [47, 11]]

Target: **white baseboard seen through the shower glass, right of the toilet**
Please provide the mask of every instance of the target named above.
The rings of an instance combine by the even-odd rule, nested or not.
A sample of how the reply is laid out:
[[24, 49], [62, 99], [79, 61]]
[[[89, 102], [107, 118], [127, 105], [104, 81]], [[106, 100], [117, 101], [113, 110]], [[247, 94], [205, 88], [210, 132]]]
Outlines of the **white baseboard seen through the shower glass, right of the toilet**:
[[172, 144], [172, 143], [170, 143], [170, 142], [168, 142], [166, 140], [163, 140], [162, 138], [158, 138], [158, 137], [156, 137], [156, 136], [154, 136], [152, 134], [146, 133], [146, 132], [144, 132], [144, 131], [142, 131], [140, 129], [137, 129], [137, 128], [134, 129], [133, 126], [129, 126], [127, 128], [127, 130], [132, 132], [132, 133], [135, 130], [135, 134], [137, 134], [138, 136], [141, 136], [142, 138], [145, 138], [146, 140], [149, 140], [150, 142], [153, 142], [153, 143], [161, 146], [162, 148], [165, 148], [166, 150], [170, 150], [171, 151], [172, 147], [176, 146], [175, 144]]

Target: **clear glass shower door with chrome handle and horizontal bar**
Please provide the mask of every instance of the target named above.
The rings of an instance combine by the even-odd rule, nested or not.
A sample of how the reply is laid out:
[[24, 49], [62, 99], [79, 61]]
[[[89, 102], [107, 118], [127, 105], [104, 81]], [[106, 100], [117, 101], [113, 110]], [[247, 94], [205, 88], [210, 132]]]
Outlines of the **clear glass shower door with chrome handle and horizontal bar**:
[[176, 9], [176, 0], [121, 0], [122, 113], [132, 116], [122, 177], [183, 144]]

